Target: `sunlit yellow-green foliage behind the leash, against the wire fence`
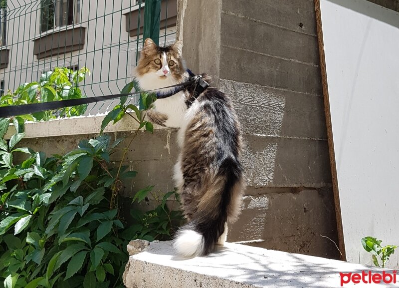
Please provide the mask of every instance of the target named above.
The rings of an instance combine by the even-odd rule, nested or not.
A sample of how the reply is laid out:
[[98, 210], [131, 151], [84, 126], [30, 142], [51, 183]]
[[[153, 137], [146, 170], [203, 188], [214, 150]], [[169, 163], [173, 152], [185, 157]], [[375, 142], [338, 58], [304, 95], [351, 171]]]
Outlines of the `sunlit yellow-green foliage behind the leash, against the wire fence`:
[[[90, 74], [86, 67], [73, 71], [68, 68], [55, 68], [41, 75], [39, 82], [24, 83], [15, 92], [8, 91], [1, 95], [0, 107], [9, 105], [23, 105], [41, 102], [51, 102], [67, 99], [86, 98], [78, 84], [86, 74]], [[57, 112], [42, 111], [22, 115], [20, 118], [30, 121], [50, 120], [57, 117], [80, 116], [86, 112], [87, 104], [66, 107]]]

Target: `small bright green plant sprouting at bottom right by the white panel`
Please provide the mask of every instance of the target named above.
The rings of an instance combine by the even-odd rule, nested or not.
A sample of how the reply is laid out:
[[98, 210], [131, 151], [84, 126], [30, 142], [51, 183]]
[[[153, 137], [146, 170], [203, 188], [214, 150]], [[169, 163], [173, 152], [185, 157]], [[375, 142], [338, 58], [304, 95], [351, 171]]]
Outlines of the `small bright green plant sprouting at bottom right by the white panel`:
[[[365, 237], [361, 240], [363, 248], [372, 254], [372, 260], [376, 267], [385, 268], [390, 256], [395, 253], [398, 246], [387, 245], [381, 246], [382, 241], [374, 237]], [[379, 260], [380, 259], [380, 260]], [[381, 261], [381, 265], [380, 265]]]

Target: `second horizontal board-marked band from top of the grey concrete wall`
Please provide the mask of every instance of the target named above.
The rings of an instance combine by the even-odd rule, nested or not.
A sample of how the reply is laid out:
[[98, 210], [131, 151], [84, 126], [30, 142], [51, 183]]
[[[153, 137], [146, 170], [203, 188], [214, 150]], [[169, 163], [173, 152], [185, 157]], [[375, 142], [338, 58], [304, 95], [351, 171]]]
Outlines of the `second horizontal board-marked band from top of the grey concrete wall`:
[[221, 14], [221, 43], [272, 56], [319, 64], [316, 37], [228, 12]]

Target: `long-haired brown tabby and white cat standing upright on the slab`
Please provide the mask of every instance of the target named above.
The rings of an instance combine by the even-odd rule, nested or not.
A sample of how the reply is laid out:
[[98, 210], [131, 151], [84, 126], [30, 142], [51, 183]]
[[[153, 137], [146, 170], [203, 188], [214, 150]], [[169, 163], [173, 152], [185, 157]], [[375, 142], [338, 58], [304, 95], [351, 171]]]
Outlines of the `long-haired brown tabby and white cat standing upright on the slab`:
[[[145, 40], [135, 72], [142, 90], [174, 93], [162, 87], [189, 79], [182, 47], [182, 41], [159, 47]], [[173, 247], [185, 258], [207, 255], [224, 244], [227, 222], [236, 220], [244, 191], [242, 133], [231, 100], [216, 88], [194, 95], [194, 86], [186, 87], [157, 99], [148, 111], [152, 122], [180, 128], [174, 180], [188, 223], [175, 235]]]

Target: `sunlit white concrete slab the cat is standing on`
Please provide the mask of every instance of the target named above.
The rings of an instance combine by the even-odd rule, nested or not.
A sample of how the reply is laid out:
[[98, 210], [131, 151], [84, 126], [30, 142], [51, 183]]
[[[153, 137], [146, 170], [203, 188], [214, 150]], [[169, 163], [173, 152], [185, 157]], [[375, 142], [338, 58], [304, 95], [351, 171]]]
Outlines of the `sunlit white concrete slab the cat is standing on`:
[[[145, 249], [147, 245], [139, 246]], [[167, 241], [151, 243], [144, 252], [130, 256], [123, 280], [127, 288], [337, 288], [341, 287], [340, 272], [361, 274], [370, 269], [382, 273], [359, 264], [232, 243], [207, 257], [179, 260]], [[343, 287], [355, 286], [398, 284], [351, 282]]]

